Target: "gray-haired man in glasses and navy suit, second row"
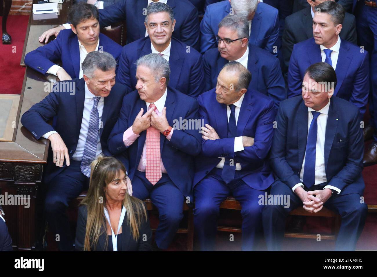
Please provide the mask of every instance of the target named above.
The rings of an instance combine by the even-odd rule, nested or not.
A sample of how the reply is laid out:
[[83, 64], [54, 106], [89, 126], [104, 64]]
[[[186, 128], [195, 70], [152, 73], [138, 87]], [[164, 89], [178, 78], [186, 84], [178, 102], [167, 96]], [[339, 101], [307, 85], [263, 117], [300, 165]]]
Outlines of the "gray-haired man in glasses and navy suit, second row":
[[204, 91], [216, 86], [219, 72], [225, 64], [238, 61], [251, 72], [248, 91], [253, 89], [270, 96], [277, 107], [287, 98], [279, 60], [264, 49], [249, 44], [248, 29], [247, 21], [239, 15], [227, 15], [221, 20], [216, 36], [218, 49], [208, 50], [203, 57]]

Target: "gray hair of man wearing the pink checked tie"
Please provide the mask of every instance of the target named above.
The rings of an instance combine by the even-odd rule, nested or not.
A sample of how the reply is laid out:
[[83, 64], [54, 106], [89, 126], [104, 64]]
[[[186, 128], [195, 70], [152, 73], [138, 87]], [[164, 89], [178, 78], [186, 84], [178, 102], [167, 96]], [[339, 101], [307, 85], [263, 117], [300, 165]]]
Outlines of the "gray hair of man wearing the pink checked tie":
[[170, 66], [161, 55], [156, 53], [144, 55], [136, 61], [136, 69], [139, 66], [145, 66], [152, 70], [156, 83], [164, 77], [166, 78], [166, 85], [169, 84]]

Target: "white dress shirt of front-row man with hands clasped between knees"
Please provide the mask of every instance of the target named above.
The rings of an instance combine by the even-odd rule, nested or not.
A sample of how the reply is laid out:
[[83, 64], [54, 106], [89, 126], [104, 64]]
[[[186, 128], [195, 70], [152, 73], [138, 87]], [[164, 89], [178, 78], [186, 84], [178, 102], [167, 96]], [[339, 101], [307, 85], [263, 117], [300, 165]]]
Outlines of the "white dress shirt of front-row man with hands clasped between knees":
[[[325, 171], [325, 136], [326, 136], [326, 124], [327, 124], [327, 117], [329, 112], [329, 106], [330, 106], [330, 100], [327, 103], [325, 107], [320, 109], [317, 112], [320, 112], [321, 114], [317, 118], [317, 145], [316, 145], [316, 173], [315, 173], [315, 181], [314, 185], [319, 185], [324, 182], [327, 182], [326, 179], [326, 171]], [[313, 120], [313, 112], [314, 110], [312, 108], [308, 107], [308, 130], [310, 129], [311, 121]], [[309, 132], [308, 132], [309, 135]], [[306, 153], [304, 155], [304, 159], [302, 162], [302, 167], [300, 171], [300, 181], [303, 181], [304, 176], [304, 167], [305, 167], [305, 157]], [[303, 186], [302, 183], [299, 183], [295, 185], [292, 190], [294, 191], [297, 187]], [[331, 188], [333, 190], [336, 190], [338, 194], [340, 193], [340, 189], [326, 185], [324, 188]]]

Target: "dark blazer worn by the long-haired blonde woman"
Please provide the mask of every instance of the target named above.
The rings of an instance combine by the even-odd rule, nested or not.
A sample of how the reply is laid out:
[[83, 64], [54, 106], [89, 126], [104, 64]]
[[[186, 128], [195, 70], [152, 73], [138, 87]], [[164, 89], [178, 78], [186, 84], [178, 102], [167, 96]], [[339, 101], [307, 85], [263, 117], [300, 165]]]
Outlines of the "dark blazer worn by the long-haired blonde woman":
[[[88, 216], [88, 211], [86, 205], [81, 205], [78, 208], [78, 218], [77, 218], [77, 229], [76, 229], [76, 240], [75, 240], [75, 249], [77, 251], [84, 250], [85, 242], [85, 231], [86, 231], [86, 220]], [[122, 224], [122, 251], [151, 251], [152, 250], [152, 230], [149, 226], [149, 220], [144, 220], [139, 228], [139, 239], [134, 240], [131, 235], [130, 225], [127, 220], [127, 212], [124, 216]], [[146, 236], [144, 236], [146, 235]], [[98, 239], [96, 248], [92, 248], [92, 251], [108, 251], [106, 244], [107, 233], [104, 231]], [[143, 240], [143, 238], [146, 239]], [[107, 243], [109, 244], [109, 242]], [[119, 247], [120, 248], [120, 247]]]

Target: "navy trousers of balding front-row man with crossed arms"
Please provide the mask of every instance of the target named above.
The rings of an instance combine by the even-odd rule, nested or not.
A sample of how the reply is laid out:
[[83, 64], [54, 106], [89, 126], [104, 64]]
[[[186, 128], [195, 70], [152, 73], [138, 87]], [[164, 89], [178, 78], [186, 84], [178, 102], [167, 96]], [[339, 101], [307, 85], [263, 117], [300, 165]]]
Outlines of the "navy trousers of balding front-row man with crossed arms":
[[254, 240], [262, 230], [263, 205], [258, 204], [259, 195], [264, 191], [247, 185], [236, 171], [234, 181], [229, 184], [221, 178], [222, 169], [214, 168], [194, 187], [194, 225], [202, 251], [213, 251], [219, 217], [220, 204], [233, 194], [241, 204], [242, 250], [253, 250]]

